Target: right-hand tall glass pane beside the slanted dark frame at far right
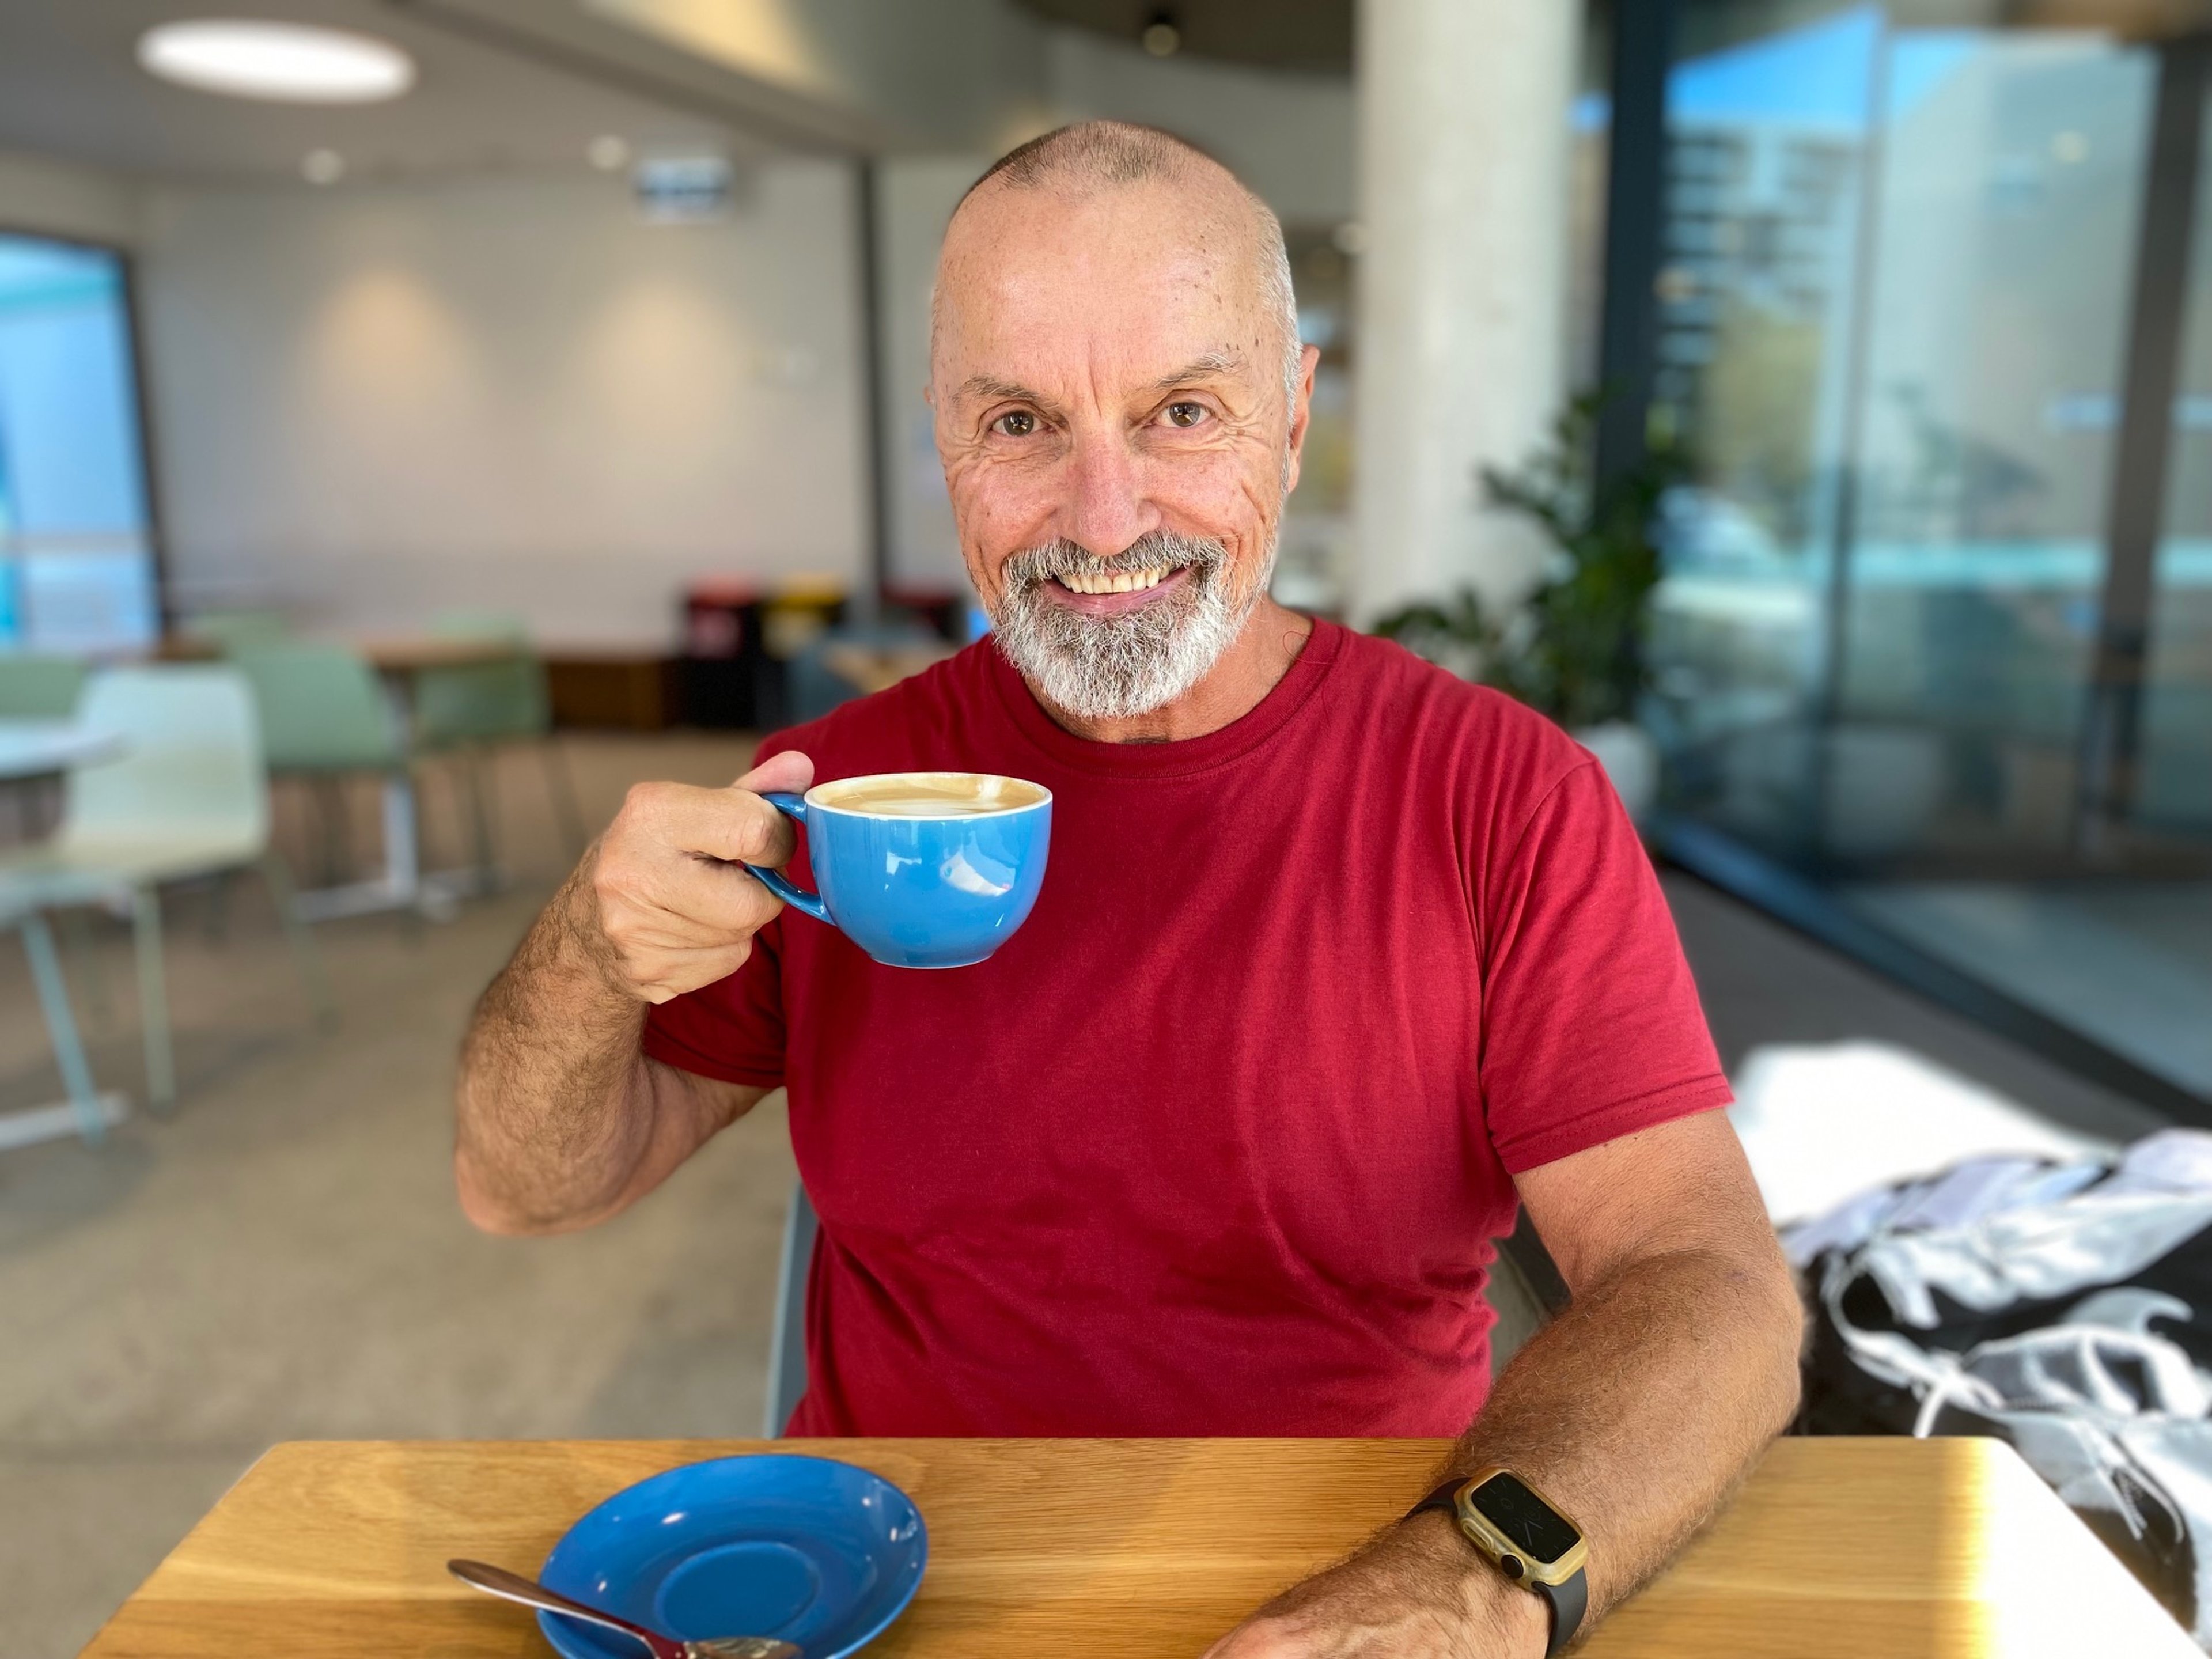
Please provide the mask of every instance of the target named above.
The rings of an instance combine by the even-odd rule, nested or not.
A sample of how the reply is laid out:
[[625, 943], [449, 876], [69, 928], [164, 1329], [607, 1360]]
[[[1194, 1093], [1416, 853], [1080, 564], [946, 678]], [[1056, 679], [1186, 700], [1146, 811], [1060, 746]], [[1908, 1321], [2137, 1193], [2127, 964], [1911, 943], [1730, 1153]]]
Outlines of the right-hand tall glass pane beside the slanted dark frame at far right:
[[2154, 93], [2064, 31], [1893, 31], [1820, 852], [2068, 858]]

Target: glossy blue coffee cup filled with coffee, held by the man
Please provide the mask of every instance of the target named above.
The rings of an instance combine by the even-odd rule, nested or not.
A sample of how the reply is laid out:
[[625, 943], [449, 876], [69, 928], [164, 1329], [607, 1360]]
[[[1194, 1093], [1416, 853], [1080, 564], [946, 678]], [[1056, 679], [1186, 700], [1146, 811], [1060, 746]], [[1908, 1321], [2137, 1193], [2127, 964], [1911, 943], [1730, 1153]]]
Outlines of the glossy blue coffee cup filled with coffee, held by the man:
[[987, 772], [878, 772], [763, 794], [807, 834], [818, 894], [745, 865], [776, 898], [887, 967], [969, 967], [1029, 920], [1053, 792]]

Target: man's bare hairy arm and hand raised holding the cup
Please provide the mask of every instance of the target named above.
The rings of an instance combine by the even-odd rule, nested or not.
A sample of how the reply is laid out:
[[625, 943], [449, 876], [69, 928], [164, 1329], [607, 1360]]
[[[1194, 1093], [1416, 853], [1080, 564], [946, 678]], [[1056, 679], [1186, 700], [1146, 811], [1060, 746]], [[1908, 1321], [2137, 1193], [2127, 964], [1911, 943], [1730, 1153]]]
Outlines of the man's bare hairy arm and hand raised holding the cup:
[[768, 1093], [648, 1060], [639, 1037], [648, 1004], [737, 971], [781, 909], [734, 865], [790, 858], [790, 825], [754, 790], [810, 779], [779, 754], [730, 790], [630, 790], [462, 1040], [453, 1175], [476, 1225], [604, 1221]]

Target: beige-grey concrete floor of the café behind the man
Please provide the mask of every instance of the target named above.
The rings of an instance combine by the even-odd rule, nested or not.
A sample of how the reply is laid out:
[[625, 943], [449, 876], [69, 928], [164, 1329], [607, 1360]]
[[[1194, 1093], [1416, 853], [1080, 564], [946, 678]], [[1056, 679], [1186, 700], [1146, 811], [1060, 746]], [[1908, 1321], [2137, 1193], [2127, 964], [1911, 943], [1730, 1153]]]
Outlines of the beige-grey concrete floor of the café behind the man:
[[[568, 752], [595, 818], [635, 776], [721, 783], [745, 757], [703, 737]], [[757, 1433], [792, 1179], [779, 1102], [595, 1232], [484, 1239], [453, 1208], [453, 1044], [564, 867], [526, 757], [500, 799], [509, 894], [451, 925], [319, 929], [345, 1004], [330, 1035], [259, 894], [221, 940], [179, 894], [179, 1113], [104, 1152], [0, 1157], [0, 1657], [75, 1652], [274, 1440]], [[453, 860], [449, 799], [427, 810], [434, 863]], [[1670, 898], [1730, 1062], [1871, 1035], [2075, 1126], [2146, 1121], [1705, 887], [1670, 880]], [[95, 949], [128, 1004], [122, 931]], [[128, 1006], [95, 1068], [137, 1091]], [[0, 947], [0, 1108], [55, 1095], [20, 951]]]

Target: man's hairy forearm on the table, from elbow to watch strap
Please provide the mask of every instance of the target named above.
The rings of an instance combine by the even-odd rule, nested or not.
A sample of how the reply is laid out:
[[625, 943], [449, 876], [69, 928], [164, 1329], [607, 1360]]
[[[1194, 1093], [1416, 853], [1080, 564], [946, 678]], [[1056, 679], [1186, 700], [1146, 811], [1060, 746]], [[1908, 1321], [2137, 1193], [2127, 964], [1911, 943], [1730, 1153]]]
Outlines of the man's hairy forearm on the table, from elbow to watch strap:
[[[1778, 1252], [1646, 1256], [1515, 1354], [1453, 1471], [1515, 1469], [1582, 1526], [1597, 1619], [1666, 1566], [1787, 1427], [1798, 1332]], [[1442, 1537], [1444, 1517], [1427, 1520]]]

